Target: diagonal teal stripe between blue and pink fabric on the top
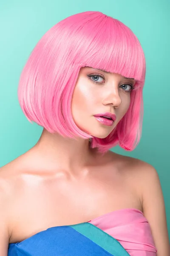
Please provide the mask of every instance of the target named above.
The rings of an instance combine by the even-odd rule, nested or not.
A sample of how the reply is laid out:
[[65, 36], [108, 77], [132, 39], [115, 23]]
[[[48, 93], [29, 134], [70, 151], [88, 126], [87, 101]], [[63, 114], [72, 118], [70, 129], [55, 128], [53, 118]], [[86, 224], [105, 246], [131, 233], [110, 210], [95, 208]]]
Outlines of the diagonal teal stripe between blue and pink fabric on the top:
[[130, 256], [119, 241], [91, 223], [85, 222], [70, 225], [69, 227], [77, 230], [79, 233], [91, 239], [91, 241], [94, 241], [94, 243], [115, 256]]

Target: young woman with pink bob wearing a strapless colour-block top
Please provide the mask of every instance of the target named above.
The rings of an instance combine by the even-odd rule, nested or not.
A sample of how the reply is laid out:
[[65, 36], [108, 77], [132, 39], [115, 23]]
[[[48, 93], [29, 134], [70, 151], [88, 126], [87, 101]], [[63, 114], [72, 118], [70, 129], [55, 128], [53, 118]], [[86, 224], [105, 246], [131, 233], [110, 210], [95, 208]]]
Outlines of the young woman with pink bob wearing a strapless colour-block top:
[[139, 142], [144, 79], [138, 39], [101, 12], [42, 36], [18, 95], [43, 131], [0, 170], [0, 255], [170, 255], [156, 170], [109, 150]]

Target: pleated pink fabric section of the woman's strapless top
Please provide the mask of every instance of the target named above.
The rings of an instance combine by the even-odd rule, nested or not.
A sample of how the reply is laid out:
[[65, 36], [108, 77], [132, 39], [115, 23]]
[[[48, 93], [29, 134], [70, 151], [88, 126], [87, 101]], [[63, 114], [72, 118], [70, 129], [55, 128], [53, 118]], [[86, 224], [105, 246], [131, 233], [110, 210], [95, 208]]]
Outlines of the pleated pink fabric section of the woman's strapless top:
[[150, 225], [140, 210], [121, 209], [88, 222], [118, 240], [130, 256], [156, 256]]

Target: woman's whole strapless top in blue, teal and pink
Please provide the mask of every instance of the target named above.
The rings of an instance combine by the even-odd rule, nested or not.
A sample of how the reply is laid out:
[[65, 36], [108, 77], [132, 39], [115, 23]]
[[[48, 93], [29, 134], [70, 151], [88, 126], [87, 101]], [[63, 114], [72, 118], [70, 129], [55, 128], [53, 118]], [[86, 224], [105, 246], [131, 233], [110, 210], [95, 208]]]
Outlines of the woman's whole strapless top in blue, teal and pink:
[[51, 227], [8, 247], [8, 256], [156, 256], [156, 252], [147, 219], [133, 208], [109, 212], [82, 225]]

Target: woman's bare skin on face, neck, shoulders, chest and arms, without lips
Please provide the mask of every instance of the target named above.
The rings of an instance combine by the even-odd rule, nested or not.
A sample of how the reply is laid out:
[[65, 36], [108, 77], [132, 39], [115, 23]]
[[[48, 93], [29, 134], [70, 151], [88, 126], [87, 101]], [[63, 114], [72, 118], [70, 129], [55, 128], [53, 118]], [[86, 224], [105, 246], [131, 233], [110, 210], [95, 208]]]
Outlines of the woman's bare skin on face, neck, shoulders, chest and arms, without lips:
[[[128, 110], [130, 92], [125, 91], [134, 83], [119, 74], [82, 68], [72, 98], [74, 122], [95, 137], [107, 137]], [[94, 117], [107, 111], [116, 114], [111, 127]], [[0, 255], [7, 256], [8, 243], [49, 227], [126, 208], [144, 213], [156, 255], [169, 256], [164, 198], [153, 166], [112, 151], [101, 157], [88, 140], [66, 139], [44, 129], [33, 148], [0, 168]]]

